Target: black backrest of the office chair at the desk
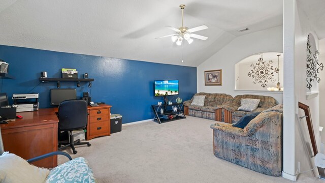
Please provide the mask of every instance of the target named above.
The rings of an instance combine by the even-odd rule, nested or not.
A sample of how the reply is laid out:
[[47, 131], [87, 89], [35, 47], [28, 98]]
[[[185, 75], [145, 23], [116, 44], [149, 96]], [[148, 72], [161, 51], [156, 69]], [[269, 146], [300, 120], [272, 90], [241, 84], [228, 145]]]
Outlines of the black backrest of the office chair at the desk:
[[58, 108], [59, 130], [70, 131], [86, 128], [87, 102], [84, 100], [62, 101]]

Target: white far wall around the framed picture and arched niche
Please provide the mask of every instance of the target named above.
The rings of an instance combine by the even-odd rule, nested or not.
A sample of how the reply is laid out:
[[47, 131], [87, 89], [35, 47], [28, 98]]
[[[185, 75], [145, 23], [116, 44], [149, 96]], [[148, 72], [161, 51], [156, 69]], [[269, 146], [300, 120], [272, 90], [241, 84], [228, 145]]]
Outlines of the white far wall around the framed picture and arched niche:
[[[224, 46], [197, 68], [198, 92], [225, 93], [233, 97], [248, 94], [235, 91], [235, 64], [243, 58], [261, 52], [283, 52], [282, 26], [240, 36]], [[222, 86], [205, 86], [204, 71], [222, 69]], [[252, 92], [249, 94], [274, 97], [282, 103], [282, 93]]]

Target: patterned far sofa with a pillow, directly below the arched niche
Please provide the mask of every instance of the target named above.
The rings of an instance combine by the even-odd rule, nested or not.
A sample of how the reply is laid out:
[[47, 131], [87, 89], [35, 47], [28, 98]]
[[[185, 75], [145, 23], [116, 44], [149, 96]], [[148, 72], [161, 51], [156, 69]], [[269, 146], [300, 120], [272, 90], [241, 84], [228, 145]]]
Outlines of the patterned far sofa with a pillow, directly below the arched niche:
[[[256, 109], [251, 112], [238, 110], [241, 106], [242, 99], [258, 99], [259, 103]], [[262, 112], [276, 105], [276, 100], [269, 96], [259, 96], [259, 95], [238, 95], [233, 98], [233, 100], [222, 106], [222, 113], [224, 115], [225, 123], [237, 123], [244, 115], [253, 112]]]

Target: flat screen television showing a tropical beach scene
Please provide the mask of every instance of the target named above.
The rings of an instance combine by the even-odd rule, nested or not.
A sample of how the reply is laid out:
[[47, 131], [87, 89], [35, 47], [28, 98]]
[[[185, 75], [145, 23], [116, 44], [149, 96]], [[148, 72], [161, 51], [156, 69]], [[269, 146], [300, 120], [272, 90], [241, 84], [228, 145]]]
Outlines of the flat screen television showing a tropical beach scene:
[[154, 81], [154, 96], [178, 95], [178, 80]]

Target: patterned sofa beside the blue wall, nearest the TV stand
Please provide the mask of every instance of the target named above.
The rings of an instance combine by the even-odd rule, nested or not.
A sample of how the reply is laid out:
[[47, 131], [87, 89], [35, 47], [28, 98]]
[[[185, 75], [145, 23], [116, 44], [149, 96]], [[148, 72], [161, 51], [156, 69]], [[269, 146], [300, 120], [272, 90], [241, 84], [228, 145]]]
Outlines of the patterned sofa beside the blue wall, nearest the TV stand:
[[[191, 105], [194, 96], [206, 96], [204, 106]], [[224, 104], [230, 104], [233, 100], [233, 97], [227, 94], [198, 93], [194, 96], [191, 100], [183, 103], [184, 114], [217, 121], [223, 121], [222, 106]]]

